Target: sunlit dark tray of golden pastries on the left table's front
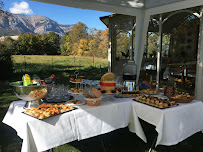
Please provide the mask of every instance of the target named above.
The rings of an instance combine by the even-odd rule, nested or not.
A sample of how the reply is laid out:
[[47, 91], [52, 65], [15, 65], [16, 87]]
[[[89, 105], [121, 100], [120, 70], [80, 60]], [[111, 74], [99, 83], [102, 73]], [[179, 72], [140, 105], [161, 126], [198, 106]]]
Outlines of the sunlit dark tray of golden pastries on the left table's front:
[[45, 119], [54, 115], [58, 115], [64, 112], [74, 110], [72, 106], [67, 106], [64, 104], [41, 104], [38, 107], [33, 107], [31, 109], [26, 109], [25, 114], [33, 116], [37, 119]]

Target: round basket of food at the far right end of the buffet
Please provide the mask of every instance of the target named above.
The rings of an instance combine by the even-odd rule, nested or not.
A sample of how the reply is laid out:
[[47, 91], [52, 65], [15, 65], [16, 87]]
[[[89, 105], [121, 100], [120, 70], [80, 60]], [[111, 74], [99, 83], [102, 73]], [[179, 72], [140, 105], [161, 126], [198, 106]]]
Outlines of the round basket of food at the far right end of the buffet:
[[177, 94], [173, 97], [170, 97], [171, 100], [176, 101], [177, 103], [189, 103], [191, 102], [195, 97], [189, 95], [188, 93], [186, 94]]

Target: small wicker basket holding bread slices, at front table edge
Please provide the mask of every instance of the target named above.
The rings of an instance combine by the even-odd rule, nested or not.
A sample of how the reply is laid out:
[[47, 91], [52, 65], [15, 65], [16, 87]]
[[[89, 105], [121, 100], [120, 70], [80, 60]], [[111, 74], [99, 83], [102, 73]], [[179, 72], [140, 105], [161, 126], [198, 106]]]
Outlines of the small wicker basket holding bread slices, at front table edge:
[[83, 90], [83, 94], [88, 106], [100, 105], [102, 94], [101, 91], [99, 91], [98, 89], [92, 88], [91, 93], [89, 93], [87, 90]]

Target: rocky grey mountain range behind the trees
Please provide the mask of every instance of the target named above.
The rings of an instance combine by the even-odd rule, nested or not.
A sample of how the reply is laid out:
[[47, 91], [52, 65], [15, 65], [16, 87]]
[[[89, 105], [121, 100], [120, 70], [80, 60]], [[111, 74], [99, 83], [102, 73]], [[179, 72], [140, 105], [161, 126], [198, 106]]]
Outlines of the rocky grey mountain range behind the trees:
[[0, 37], [27, 32], [45, 34], [50, 31], [63, 36], [65, 32], [71, 31], [74, 26], [74, 24], [61, 25], [48, 17], [40, 15], [2, 13], [0, 16]]

